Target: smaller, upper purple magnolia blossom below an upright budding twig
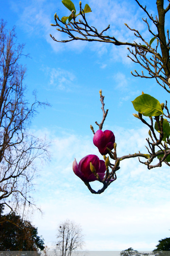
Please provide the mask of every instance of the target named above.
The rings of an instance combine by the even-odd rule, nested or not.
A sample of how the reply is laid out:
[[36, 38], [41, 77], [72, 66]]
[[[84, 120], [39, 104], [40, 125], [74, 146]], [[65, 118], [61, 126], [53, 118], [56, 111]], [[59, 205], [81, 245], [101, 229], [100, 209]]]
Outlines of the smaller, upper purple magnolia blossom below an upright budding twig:
[[93, 137], [93, 143], [99, 149], [99, 152], [105, 155], [108, 153], [107, 148], [111, 150], [114, 148], [115, 135], [109, 130], [104, 132], [98, 130]]

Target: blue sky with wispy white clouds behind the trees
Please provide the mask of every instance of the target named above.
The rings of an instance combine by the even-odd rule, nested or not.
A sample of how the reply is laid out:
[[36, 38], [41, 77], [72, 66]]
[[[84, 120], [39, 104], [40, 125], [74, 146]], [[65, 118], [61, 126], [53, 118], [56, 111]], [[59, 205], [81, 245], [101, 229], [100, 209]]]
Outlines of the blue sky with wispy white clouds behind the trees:
[[[155, 16], [155, 1], [140, 1]], [[133, 41], [134, 35], [124, 23], [141, 31], [149, 41], [142, 17], [146, 15], [134, 0], [82, 1], [91, 7], [87, 13], [89, 24], [102, 30], [111, 25], [109, 35], [122, 41]], [[165, 1], [168, 4], [168, 1]], [[74, 2], [78, 9], [79, 1]], [[138, 119], [131, 103], [141, 92], [151, 94], [160, 103], [169, 95], [152, 79], [140, 79], [131, 70], [141, 71], [127, 58], [126, 47], [94, 42], [54, 42], [62, 33], [50, 26], [55, 12], [61, 18], [69, 11], [59, 0], [0, 0], [0, 17], [7, 27], [16, 26], [18, 42], [25, 43], [22, 58], [27, 65], [26, 98], [48, 101], [51, 107], [40, 108], [32, 122], [31, 131], [51, 141], [51, 162], [39, 166], [36, 180], [36, 203], [43, 215], [31, 217], [45, 244], [55, 244], [60, 222], [71, 219], [80, 223], [84, 233], [84, 250], [153, 250], [158, 240], [170, 237], [169, 170], [148, 170], [137, 159], [121, 162], [117, 180], [100, 195], [91, 194], [74, 175], [72, 162], [79, 162], [87, 154], [102, 159], [92, 143], [90, 124], [102, 119], [99, 90], [105, 96], [108, 116], [103, 130], [112, 130], [116, 137], [118, 156], [145, 150], [148, 128]], [[169, 26], [170, 19], [166, 22]], [[100, 184], [94, 182], [92, 187]]]

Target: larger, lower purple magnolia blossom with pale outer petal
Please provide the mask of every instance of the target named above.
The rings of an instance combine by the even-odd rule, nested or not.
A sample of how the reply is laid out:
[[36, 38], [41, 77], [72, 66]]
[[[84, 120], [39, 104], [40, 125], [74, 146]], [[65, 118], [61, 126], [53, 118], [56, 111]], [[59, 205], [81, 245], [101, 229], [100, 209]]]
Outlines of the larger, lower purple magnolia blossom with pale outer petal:
[[95, 181], [97, 178], [90, 170], [90, 162], [94, 165], [96, 173], [99, 174], [100, 179], [105, 176], [106, 166], [103, 160], [100, 160], [95, 155], [88, 155], [80, 160], [79, 164], [76, 160], [73, 162], [73, 172], [84, 182]]

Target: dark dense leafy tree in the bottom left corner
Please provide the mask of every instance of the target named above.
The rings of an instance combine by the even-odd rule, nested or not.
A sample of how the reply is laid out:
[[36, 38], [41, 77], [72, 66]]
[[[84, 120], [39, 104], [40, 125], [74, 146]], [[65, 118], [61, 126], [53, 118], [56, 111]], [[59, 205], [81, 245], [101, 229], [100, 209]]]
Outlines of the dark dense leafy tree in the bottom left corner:
[[2, 215], [3, 207], [0, 206], [0, 251], [44, 250], [44, 241], [38, 236], [37, 228], [14, 213]]

